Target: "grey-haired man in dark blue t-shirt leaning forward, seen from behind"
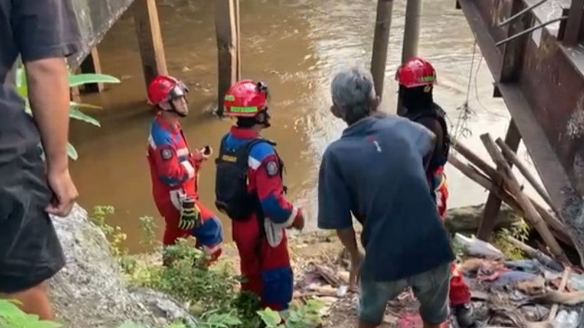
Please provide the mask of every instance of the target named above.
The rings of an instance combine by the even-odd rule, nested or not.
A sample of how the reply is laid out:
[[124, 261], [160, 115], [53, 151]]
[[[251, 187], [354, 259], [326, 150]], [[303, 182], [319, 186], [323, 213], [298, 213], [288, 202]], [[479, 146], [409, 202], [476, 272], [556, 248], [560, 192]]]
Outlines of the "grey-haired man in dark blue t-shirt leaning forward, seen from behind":
[[[376, 113], [373, 81], [359, 69], [331, 86], [335, 117], [349, 127], [326, 149], [318, 182], [318, 226], [336, 229], [360, 283], [359, 327], [376, 327], [387, 301], [411, 286], [425, 327], [448, 316], [449, 238], [426, 180], [435, 137], [422, 125]], [[351, 214], [363, 225], [357, 247]], [[362, 261], [362, 266], [361, 266]]]

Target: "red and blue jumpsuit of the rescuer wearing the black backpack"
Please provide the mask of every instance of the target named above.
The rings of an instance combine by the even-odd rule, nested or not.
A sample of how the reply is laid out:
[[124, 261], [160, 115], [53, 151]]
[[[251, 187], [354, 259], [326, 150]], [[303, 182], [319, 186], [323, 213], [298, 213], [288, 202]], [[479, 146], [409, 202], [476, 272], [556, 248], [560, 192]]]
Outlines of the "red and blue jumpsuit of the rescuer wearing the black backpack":
[[[232, 127], [225, 146], [238, 149], [259, 135], [250, 130]], [[248, 219], [233, 220], [233, 240], [241, 259], [242, 290], [251, 291], [262, 299], [262, 306], [284, 310], [292, 300], [293, 274], [288, 255], [285, 229], [300, 216], [300, 210], [284, 197], [280, 176], [280, 159], [273, 146], [258, 142], [248, 157], [248, 191], [257, 193], [265, 216], [263, 226], [256, 214]]]

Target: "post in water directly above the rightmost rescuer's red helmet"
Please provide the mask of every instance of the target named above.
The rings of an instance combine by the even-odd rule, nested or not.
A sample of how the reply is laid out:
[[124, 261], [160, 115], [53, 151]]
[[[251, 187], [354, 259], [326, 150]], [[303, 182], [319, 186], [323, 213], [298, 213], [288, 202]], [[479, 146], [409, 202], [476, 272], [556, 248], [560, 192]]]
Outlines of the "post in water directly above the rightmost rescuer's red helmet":
[[[402, 64], [418, 54], [418, 40], [420, 39], [420, 15], [422, 14], [422, 0], [408, 0], [405, 9], [404, 45], [402, 46]], [[401, 99], [398, 97], [398, 115], [403, 114]]]

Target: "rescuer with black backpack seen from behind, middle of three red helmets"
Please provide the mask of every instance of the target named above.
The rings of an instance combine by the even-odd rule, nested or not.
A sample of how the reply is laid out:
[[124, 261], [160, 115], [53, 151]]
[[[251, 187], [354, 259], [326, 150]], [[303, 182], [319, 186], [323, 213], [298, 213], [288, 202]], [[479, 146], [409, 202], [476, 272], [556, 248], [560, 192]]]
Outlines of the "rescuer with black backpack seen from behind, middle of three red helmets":
[[270, 126], [267, 94], [264, 83], [244, 80], [225, 95], [225, 115], [237, 124], [221, 139], [215, 205], [232, 219], [242, 289], [259, 295], [262, 306], [284, 310], [293, 291], [285, 229], [302, 229], [304, 217], [284, 196], [276, 144], [259, 135]]

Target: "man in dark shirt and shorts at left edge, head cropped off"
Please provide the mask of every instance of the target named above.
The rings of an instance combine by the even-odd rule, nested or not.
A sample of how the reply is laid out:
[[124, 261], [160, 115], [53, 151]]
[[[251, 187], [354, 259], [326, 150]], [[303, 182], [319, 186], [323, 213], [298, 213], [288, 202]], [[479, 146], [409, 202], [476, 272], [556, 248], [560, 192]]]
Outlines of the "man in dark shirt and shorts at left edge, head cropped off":
[[[0, 0], [0, 297], [41, 319], [53, 317], [44, 281], [65, 264], [48, 214], [66, 216], [77, 198], [64, 57], [78, 40], [69, 0]], [[19, 55], [34, 119], [15, 89]]]

